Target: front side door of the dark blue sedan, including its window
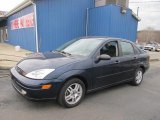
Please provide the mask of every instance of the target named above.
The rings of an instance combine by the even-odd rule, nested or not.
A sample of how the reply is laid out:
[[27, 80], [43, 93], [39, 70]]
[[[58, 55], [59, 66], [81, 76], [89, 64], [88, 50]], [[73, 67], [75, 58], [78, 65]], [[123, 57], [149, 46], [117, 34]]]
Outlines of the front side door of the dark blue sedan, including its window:
[[98, 88], [107, 86], [121, 81], [120, 76], [120, 61], [119, 61], [119, 44], [118, 41], [109, 41], [101, 47], [96, 56], [107, 54], [111, 57], [110, 60], [100, 60], [94, 62], [93, 73], [94, 82], [93, 87]]

